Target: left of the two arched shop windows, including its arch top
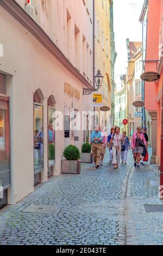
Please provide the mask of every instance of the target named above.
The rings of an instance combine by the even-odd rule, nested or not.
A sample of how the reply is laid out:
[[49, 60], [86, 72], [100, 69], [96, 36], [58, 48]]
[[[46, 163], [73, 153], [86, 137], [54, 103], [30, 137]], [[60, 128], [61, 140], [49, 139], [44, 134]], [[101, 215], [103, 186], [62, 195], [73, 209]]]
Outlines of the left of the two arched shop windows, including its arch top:
[[[34, 94], [34, 174], [43, 170], [43, 94], [40, 89]], [[38, 176], [38, 175], [37, 175]], [[38, 180], [40, 177], [38, 178]], [[38, 181], [39, 182], [39, 181]], [[35, 185], [37, 182], [35, 182]]]

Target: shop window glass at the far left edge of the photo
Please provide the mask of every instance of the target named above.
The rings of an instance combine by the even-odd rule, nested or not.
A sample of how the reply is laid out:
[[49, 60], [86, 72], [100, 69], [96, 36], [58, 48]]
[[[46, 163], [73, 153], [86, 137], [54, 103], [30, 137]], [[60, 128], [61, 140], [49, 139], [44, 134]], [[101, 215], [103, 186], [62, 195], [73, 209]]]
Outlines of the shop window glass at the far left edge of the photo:
[[9, 105], [0, 100], [0, 186], [10, 185]]

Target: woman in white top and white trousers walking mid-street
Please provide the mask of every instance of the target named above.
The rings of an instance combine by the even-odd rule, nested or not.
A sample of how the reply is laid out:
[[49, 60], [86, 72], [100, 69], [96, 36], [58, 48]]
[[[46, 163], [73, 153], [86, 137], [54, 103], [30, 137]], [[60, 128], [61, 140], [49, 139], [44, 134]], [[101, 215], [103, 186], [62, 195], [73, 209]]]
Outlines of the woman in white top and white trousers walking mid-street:
[[112, 134], [110, 143], [112, 143], [112, 163], [114, 164], [114, 169], [118, 168], [121, 158], [121, 148], [122, 142], [124, 141], [124, 136], [120, 133], [120, 127], [115, 128], [115, 133]]

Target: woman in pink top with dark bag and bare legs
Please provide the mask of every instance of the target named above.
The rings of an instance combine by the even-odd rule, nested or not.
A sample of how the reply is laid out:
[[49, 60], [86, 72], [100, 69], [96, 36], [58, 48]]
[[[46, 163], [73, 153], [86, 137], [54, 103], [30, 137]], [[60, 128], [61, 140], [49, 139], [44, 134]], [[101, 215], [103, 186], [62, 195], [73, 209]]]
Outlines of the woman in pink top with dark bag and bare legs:
[[134, 166], [140, 168], [140, 156], [143, 153], [143, 147], [146, 147], [146, 139], [145, 136], [141, 133], [141, 127], [137, 127], [137, 132], [133, 133], [132, 141], [131, 141], [131, 149], [134, 154]]

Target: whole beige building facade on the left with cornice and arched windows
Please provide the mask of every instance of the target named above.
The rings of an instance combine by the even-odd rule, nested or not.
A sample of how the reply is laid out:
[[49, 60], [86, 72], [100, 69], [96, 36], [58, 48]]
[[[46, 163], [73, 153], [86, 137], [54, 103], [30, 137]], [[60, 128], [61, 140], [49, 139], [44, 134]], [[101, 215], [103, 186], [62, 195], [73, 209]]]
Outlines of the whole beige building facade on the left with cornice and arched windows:
[[66, 145], [81, 149], [90, 140], [70, 123], [93, 109], [91, 97], [83, 96], [93, 85], [92, 11], [87, 1], [0, 2], [3, 205], [59, 175]]

